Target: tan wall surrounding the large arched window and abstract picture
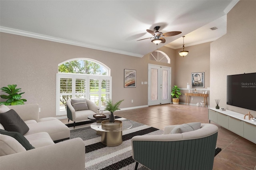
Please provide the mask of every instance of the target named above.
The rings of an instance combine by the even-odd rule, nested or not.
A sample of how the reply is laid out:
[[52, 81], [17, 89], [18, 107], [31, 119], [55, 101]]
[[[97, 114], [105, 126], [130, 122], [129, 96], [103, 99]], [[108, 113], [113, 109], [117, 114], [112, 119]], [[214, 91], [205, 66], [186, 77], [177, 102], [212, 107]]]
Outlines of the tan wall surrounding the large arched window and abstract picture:
[[[2, 32], [0, 37], [0, 87], [17, 84], [25, 92], [22, 98], [28, 100], [26, 104], [39, 104], [40, 117], [56, 117], [56, 73], [63, 61], [84, 57], [110, 67], [112, 100], [124, 99], [120, 108], [148, 105], [148, 86], [141, 85], [141, 81], [148, 81], [148, 63], [172, 67], [175, 62], [175, 50], [168, 47], [161, 50], [171, 57], [171, 64], [151, 61], [149, 54], [132, 57]], [[136, 70], [136, 88], [124, 88], [124, 69]]]

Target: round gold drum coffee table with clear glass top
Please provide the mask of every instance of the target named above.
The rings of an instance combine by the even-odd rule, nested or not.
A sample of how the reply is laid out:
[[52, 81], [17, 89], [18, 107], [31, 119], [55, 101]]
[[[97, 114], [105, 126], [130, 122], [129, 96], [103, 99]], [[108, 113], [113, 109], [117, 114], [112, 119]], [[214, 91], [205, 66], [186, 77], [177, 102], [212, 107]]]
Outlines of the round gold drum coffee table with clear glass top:
[[132, 127], [132, 123], [126, 120], [115, 120], [110, 123], [109, 120], [101, 123], [93, 123], [91, 128], [101, 131], [101, 142], [105, 146], [118, 146], [122, 144], [122, 131]]

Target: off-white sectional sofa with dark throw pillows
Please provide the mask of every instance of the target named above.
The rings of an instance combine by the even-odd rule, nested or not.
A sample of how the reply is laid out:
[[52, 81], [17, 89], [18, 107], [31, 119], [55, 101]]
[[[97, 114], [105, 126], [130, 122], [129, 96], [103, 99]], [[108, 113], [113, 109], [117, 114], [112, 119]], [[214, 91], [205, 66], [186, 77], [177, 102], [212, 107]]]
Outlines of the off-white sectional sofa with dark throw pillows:
[[[18, 135], [25, 138], [32, 148], [28, 149], [12, 136], [0, 134], [0, 170], [84, 170], [83, 140], [74, 138], [59, 142], [70, 137], [70, 130], [66, 125], [53, 117], [39, 119], [37, 104], [8, 107], [1, 105], [0, 114], [6, 113], [8, 109], [16, 111], [29, 127], [24, 136]], [[1, 124], [0, 129], [9, 133]]]

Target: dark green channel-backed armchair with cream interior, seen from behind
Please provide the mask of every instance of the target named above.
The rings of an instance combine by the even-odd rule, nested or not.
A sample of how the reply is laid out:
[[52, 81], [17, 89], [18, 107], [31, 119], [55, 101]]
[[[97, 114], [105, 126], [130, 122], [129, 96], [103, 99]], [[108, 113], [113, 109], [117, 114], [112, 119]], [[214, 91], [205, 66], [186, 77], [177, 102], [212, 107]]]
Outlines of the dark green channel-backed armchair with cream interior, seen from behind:
[[150, 170], [212, 170], [218, 127], [201, 124], [198, 130], [170, 134], [177, 125], [164, 128], [162, 135], [132, 138], [132, 158]]

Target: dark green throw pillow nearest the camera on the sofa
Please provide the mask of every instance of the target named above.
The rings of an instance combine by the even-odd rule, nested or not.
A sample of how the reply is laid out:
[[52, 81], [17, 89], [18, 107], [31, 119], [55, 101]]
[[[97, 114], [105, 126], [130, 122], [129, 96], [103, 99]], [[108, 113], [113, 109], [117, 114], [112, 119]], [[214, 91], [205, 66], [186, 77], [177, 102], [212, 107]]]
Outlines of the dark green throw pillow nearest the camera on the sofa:
[[34, 147], [28, 142], [28, 140], [19, 132], [8, 132], [0, 129], [0, 134], [8, 135], [15, 138], [26, 150], [34, 149]]

